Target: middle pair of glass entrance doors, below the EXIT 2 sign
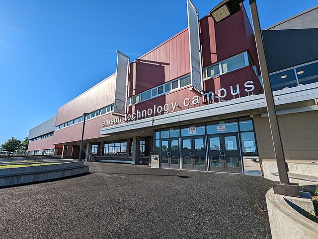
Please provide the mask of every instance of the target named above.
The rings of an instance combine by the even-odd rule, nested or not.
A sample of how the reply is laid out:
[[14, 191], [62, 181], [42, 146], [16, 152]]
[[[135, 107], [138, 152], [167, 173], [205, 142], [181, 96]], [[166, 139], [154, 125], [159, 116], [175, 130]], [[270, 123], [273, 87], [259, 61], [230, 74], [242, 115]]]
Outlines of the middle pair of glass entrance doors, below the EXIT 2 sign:
[[182, 137], [182, 169], [207, 170], [204, 136]]

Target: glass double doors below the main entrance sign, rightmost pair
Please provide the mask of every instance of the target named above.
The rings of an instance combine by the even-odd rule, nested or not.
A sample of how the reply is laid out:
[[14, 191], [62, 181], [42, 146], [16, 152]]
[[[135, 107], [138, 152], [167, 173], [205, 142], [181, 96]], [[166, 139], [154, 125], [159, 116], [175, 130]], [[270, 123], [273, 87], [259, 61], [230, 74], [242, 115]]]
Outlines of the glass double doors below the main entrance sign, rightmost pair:
[[209, 135], [208, 142], [211, 171], [243, 173], [238, 133]]

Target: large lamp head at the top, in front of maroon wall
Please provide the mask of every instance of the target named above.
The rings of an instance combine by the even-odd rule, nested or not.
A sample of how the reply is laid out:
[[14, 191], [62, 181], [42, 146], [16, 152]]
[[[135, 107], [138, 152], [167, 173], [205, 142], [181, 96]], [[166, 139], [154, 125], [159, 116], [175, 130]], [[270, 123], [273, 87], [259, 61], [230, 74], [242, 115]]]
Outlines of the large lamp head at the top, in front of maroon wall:
[[216, 23], [237, 13], [241, 8], [239, 3], [243, 0], [223, 0], [210, 11], [210, 15]]

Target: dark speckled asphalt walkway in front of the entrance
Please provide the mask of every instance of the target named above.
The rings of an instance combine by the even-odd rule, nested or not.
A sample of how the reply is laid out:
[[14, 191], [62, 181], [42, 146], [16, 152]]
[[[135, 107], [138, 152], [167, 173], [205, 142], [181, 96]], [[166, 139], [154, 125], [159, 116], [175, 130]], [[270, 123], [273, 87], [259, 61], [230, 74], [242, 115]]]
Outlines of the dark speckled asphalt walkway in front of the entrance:
[[88, 162], [92, 174], [0, 189], [0, 238], [270, 238], [271, 181]]

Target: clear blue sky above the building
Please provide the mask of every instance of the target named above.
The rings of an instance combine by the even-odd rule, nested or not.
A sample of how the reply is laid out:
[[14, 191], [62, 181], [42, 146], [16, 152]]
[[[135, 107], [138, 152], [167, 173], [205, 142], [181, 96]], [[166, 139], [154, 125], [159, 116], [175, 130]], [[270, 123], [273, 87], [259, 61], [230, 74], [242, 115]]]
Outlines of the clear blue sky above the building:
[[[192, 0], [199, 17], [221, 0]], [[258, 0], [261, 27], [316, 0]], [[249, 14], [248, 1], [244, 2]], [[1, 0], [0, 144], [187, 27], [186, 0]]]

